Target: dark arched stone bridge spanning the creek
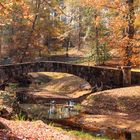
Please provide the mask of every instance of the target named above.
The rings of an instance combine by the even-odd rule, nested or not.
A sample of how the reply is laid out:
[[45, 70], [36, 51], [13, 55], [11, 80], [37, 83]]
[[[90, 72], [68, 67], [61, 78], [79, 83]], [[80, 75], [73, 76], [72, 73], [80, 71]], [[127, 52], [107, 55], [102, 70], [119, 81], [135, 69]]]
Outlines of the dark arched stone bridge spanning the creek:
[[56, 61], [42, 61], [0, 66], [1, 83], [5, 80], [27, 74], [29, 72], [64, 72], [79, 76], [92, 86], [103, 84], [104, 87], [122, 87], [130, 85], [129, 68], [107, 68], [83, 66]]

